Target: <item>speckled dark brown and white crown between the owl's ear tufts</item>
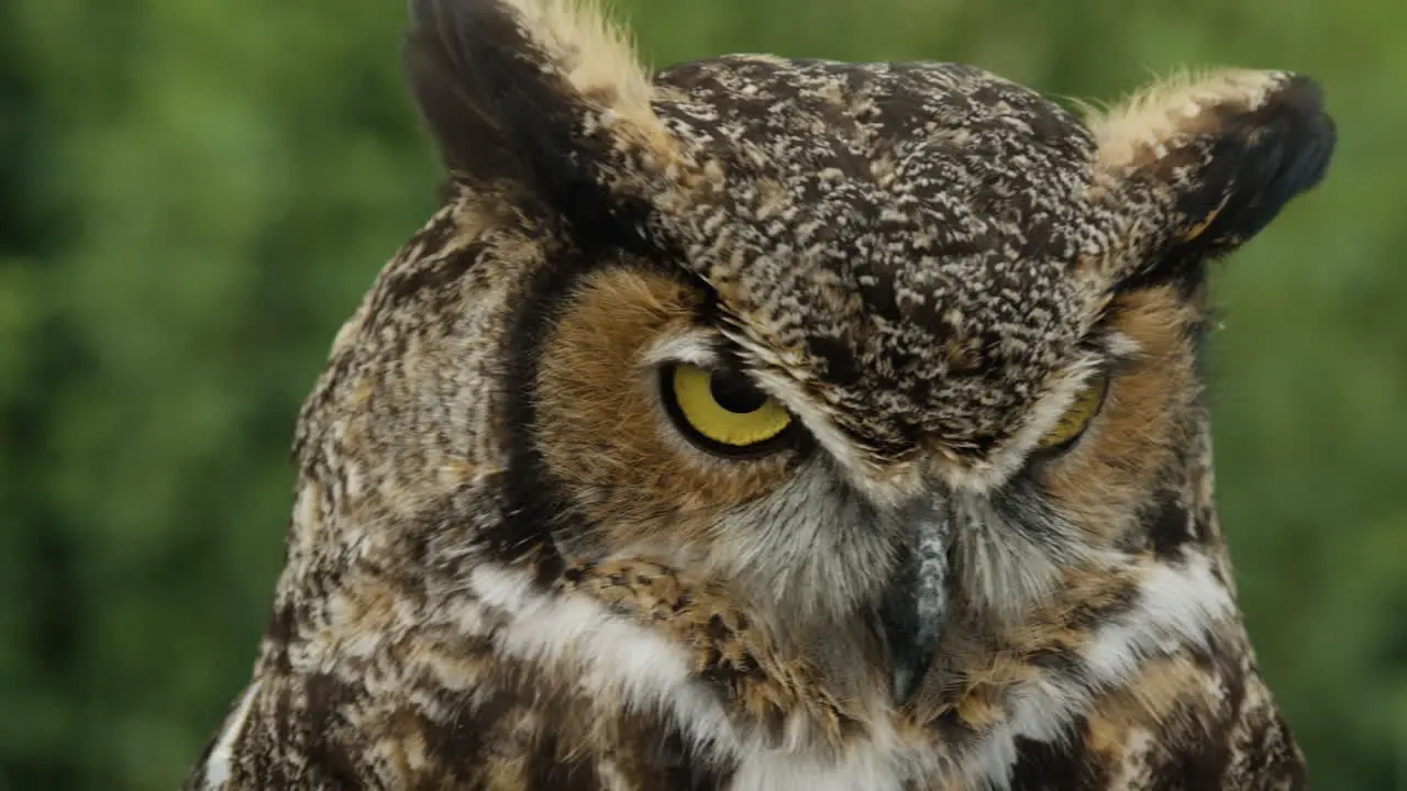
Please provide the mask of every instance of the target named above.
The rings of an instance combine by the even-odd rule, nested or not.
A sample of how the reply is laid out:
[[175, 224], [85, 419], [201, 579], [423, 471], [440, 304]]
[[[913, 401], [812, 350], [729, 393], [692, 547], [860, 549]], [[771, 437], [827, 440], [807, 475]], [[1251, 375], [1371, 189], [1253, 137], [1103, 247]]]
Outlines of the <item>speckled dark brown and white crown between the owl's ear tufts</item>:
[[722, 173], [670, 231], [751, 348], [865, 415], [840, 419], [877, 450], [1016, 425], [1092, 319], [1071, 272], [1107, 246], [1075, 117], [961, 65], [726, 58], [658, 82]]

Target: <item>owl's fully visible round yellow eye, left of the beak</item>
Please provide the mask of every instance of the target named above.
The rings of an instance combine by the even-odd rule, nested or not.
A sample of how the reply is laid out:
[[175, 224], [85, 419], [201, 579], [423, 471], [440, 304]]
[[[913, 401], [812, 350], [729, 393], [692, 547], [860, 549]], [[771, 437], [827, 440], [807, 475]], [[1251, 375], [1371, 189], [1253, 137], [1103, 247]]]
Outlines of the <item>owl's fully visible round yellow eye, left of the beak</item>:
[[680, 363], [663, 372], [664, 403], [681, 431], [706, 450], [757, 455], [774, 450], [792, 415], [736, 372]]

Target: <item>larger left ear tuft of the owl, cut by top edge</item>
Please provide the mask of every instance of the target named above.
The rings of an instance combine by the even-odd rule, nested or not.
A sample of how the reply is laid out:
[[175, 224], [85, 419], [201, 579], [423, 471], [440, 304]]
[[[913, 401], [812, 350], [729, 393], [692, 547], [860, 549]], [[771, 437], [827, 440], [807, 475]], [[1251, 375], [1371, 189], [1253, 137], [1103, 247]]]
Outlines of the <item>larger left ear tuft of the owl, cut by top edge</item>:
[[[577, 0], [411, 0], [402, 61], [450, 176], [590, 228], [675, 144], [622, 34]], [[633, 194], [612, 194], [635, 179]], [[594, 208], [597, 207], [597, 208]]]

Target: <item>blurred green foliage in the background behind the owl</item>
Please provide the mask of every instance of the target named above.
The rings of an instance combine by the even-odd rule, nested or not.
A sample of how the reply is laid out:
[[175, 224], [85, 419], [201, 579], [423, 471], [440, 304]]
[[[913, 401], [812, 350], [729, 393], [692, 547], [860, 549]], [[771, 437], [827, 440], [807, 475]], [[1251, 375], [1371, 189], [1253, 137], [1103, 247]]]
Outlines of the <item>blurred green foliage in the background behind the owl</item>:
[[[1292, 68], [1328, 182], [1221, 267], [1223, 514], [1317, 788], [1407, 783], [1407, 4], [635, 0], [653, 63]], [[174, 788], [243, 684], [294, 412], [432, 207], [404, 3], [0, 3], [0, 790]]]

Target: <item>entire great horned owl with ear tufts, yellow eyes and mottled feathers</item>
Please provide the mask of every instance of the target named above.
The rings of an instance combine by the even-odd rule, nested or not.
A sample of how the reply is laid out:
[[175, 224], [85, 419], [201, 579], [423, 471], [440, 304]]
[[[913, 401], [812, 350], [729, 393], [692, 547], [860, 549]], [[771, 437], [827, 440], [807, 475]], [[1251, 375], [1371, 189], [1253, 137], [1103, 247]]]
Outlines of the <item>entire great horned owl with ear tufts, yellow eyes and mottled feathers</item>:
[[414, 0], [443, 207], [342, 328], [189, 788], [1303, 788], [1213, 493], [1207, 265], [1317, 84], [1068, 111], [955, 63], [647, 75]]

